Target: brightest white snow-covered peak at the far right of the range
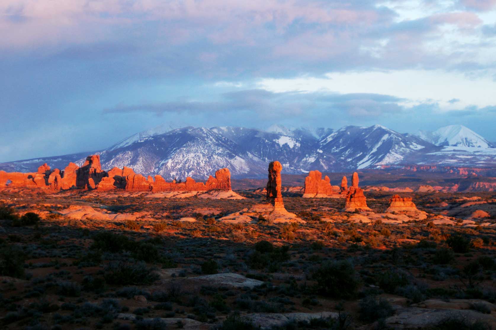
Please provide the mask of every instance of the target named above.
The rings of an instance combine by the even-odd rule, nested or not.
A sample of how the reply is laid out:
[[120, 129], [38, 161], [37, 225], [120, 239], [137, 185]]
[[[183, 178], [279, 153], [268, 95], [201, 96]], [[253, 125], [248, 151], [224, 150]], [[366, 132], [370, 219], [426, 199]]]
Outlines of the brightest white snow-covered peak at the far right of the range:
[[463, 125], [449, 125], [434, 132], [420, 131], [419, 137], [435, 145], [489, 148], [493, 144]]

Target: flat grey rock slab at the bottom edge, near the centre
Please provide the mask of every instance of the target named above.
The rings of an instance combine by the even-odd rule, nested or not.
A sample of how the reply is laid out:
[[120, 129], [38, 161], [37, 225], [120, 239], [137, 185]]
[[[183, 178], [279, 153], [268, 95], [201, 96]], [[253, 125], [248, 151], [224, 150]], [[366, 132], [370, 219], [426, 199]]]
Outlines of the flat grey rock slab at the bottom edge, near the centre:
[[281, 327], [290, 321], [310, 321], [312, 319], [337, 318], [336, 312], [319, 313], [253, 313], [242, 316], [243, 320], [251, 322], [256, 329], [271, 329]]

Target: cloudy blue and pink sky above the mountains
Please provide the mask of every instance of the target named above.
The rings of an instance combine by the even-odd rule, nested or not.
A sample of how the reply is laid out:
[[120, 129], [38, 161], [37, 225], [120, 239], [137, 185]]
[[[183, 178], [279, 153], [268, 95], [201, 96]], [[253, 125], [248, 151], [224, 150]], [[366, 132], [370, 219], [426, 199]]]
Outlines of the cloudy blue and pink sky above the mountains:
[[496, 0], [1, 0], [0, 162], [166, 124], [496, 141]]

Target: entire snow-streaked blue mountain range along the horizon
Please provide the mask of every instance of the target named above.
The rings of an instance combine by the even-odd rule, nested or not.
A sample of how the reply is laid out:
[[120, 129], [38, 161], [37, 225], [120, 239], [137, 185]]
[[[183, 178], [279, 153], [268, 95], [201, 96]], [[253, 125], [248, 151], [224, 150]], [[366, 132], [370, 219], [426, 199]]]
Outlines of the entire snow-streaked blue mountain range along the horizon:
[[[82, 163], [89, 153], [0, 163], [0, 170], [36, 171], [44, 162], [63, 168], [69, 161]], [[243, 127], [171, 129], [164, 125], [96, 153], [104, 169], [129, 166], [136, 173], [160, 174], [166, 180], [187, 176], [205, 179], [223, 167], [228, 167], [233, 177], [261, 177], [272, 160], [279, 160], [284, 172], [292, 174], [384, 166], [496, 164], [494, 145], [461, 125], [419, 135], [401, 134], [381, 125], [345, 126], [339, 130], [276, 125], [264, 131]]]

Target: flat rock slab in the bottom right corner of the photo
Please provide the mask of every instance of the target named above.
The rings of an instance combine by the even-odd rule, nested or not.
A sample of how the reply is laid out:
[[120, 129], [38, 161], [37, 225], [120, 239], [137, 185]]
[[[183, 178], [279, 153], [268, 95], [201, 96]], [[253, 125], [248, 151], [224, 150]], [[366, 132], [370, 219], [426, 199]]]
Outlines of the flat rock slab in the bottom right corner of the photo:
[[448, 319], [464, 319], [468, 323], [484, 322], [495, 328], [496, 318], [490, 314], [482, 314], [471, 310], [453, 309], [427, 309], [427, 308], [405, 308], [397, 315], [388, 317], [385, 320], [389, 329], [423, 329], [431, 327], [435, 329], [437, 325]]

